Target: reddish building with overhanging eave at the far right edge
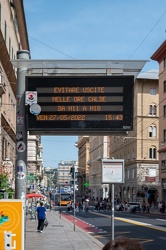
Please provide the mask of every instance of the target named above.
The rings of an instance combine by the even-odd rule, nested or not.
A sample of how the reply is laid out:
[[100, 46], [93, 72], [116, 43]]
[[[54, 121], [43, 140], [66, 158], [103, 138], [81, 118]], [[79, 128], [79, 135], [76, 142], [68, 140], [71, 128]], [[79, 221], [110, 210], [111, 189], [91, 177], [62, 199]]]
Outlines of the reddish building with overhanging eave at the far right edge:
[[159, 63], [159, 198], [166, 201], [166, 41], [151, 59]]

